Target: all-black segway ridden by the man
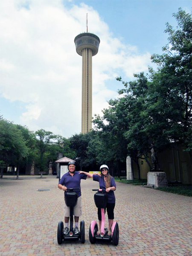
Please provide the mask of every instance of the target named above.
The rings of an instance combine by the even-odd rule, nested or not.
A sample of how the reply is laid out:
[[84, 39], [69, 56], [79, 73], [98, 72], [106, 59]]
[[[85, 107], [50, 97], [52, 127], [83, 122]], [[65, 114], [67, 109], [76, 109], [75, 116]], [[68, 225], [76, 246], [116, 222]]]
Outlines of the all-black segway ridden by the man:
[[75, 234], [73, 230], [73, 207], [77, 204], [77, 193], [74, 190], [79, 190], [76, 188], [69, 188], [65, 193], [65, 203], [70, 207], [70, 228], [67, 235], [64, 234], [64, 224], [63, 221], [59, 221], [57, 228], [57, 241], [58, 244], [62, 244], [63, 241], [72, 241], [81, 239], [81, 243], [84, 244], [85, 234], [84, 234], [84, 221], [80, 222], [80, 233]]

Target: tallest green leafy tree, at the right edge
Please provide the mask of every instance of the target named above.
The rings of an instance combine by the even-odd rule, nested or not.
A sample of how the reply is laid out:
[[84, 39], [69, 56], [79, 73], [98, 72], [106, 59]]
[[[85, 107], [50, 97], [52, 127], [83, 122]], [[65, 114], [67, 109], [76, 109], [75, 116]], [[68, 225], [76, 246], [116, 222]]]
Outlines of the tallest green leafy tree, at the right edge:
[[[177, 29], [167, 23], [165, 32], [169, 43], [163, 47], [163, 55], [154, 54], [152, 62], [157, 72], [152, 74], [153, 90], [157, 100], [151, 109], [164, 116], [169, 141], [180, 142], [191, 151], [192, 131], [192, 16], [179, 9], [173, 16]], [[155, 107], [155, 108], [154, 108]], [[163, 111], [164, 113], [163, 113]]]

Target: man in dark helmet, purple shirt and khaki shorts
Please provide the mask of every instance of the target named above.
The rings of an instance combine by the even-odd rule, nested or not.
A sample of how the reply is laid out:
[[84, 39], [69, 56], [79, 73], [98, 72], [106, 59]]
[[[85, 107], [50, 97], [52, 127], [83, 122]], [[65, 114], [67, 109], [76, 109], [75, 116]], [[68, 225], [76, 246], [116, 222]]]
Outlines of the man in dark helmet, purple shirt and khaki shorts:
[[[78, 228], [78, 222], [79, 222], [79, 216], [82, 214], [82, 208], [81, 208], [81, 179], [86, 180], [87, 175], [84, 175], [83, 173], [79, 175], [79, 172], [75, 171], [76, 163], [75, 162], [69, 162], [68, 163], [68, 170], [69, 172], [65, 173], [61, 180], [58, 183], [58, 188], [65, 191], [67, 188], [79, 188], [79, 190], [76, 192], [78, 196], [78, 201], [76, 206], [74, 207], [74, 219], [75, 219], [75, 228], [74, 232], [75, 234], [79, 234], [79, 228]], [[64, 204], [64, 216], [65, 216], [65, 228], [64, 228], [64, 235], [67, 235], [69, 232], [69, 218], [70, 218], [70, 207], [67, 207], [66, 204]]]

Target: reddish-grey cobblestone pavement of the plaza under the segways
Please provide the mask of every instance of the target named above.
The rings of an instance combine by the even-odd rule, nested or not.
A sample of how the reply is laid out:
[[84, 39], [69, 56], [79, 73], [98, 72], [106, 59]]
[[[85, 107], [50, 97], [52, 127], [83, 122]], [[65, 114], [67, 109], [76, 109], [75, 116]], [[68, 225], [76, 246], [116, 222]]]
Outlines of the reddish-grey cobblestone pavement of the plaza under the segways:
[[192, 199], [123, 183], [116, 183], [115, 192], [119, 244], [90, 244], [89, 225], [97, 221], [95, 192], [91, 189], [98, 188], [98, 183], [92, 179], [81, 181], [80, 221], [85, 221], [85, 243], [79, 240], [58, 245], [57, 225], [64, 221], [64, 195], [57, 184], [55, 176], [20, 176], [19, 180], [4, 176], [0, 180], [1, 256], [192, 255]]

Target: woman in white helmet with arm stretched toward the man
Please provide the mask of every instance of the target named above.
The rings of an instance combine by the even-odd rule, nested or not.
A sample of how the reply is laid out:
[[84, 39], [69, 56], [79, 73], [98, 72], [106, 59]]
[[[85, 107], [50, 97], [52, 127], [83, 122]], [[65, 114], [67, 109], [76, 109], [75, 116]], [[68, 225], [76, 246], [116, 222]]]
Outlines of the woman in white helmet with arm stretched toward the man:
[[[109, 230], [108, 236], [111, 236], [111, 226], [113, 224], [114, 219], [114, 208], [115, 208], [115, 194], [114, 191], [116, 190], [116, 183], [114, 178], [109, 174], [108, 166], [105, 164], [100, 167], [101, 175], [100, 174], [91, 174], [88, 172], [79, 171], [79, 174], [85, 174], [88, 177], [93, 177], [93, 180], [99, 182], [99, 188], [105, 189], [108, 192], [108, 202], [107, 202], [107, 212], [108, 212], [108, 221], [109, 221]], [[106, 211], [105, 208], [105, 211]], [[97, 235], [101, 233], [101, 223], [102, 223], [102, 216], [101, 216], [101, 209], [98, 208], [98, 219], [99, 219], [99, 230], [97, 231]]]

